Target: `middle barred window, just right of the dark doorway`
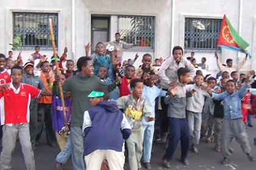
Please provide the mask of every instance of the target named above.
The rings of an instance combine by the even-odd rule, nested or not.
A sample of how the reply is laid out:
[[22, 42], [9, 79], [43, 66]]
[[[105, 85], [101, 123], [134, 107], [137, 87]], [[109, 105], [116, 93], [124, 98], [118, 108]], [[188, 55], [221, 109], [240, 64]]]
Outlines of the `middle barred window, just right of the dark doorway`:
[[137, 44], [131, 50], [154, 51], [155, 16], [118, 16], [118, 32], [127, 43]]

